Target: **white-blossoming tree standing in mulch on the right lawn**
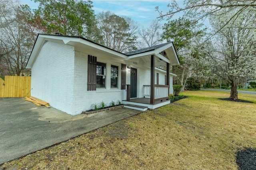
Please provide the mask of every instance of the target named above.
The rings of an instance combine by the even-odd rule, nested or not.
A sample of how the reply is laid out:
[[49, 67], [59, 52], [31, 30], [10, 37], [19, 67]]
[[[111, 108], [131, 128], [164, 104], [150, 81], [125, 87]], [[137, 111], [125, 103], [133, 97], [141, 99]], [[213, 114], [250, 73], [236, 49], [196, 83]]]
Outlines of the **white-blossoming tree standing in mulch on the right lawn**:
[[[240, 25], [234, 27], [228, 23], [225, 28], [222, 23], [230, 20], [240, 9], [228, 10], [229, 13], [221, 14], [211, 18], [214, 31], [218, 30], [213, 41], [214, 48], [208, 49], [208, 55], [214, 64], [213, 70], [216, 76], [231, 84], [231, 99], [238, 100], [237, 86], [240, 80], [245, 78], [256, 78], [256, 24], [251, 22], [248, 12], [240, 14], [239, 18], [233, 19], [232, 23]], [[256, 28], [256, 27], [255, 27]], [[212, 46], [213, 47], [213, 46]]]

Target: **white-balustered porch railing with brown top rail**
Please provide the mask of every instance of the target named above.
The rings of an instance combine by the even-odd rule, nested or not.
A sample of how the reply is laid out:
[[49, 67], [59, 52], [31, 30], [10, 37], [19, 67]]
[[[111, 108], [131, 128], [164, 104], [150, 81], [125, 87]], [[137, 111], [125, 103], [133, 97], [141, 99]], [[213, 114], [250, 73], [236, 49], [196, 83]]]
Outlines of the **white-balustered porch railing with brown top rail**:
[[[154, 99], [162, 99], [169, 97], [169, 86], [155, 84]], [[150, 97], [150, 85], [143, 85], [143, 97]]]

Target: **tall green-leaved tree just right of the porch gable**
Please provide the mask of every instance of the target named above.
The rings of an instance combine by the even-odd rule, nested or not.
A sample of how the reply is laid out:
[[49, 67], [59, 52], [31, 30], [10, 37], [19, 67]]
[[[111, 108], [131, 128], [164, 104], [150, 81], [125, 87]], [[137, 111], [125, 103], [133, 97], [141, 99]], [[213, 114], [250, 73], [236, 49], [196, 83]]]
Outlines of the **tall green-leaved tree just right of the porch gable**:
[[174, 84], [181, 84], [182, 90], [185, 88], [187, 78], [196, 68], [195, 64], [202, 63], [198, 58], [202, 47], [195, 46], [202, 42], [206, 34], [206, 29], [201, 29], [201, 26], [202, 24], [198, 24], [198, 22], [180, 17], [178, 20], [169, 20], [163, 27], [162, 39], [166, 39], [168, 42], [174, 41], [174, 47], [180, 59], [180, 66], [172, 66], [172, 72], [177, 74], [173, 81]]

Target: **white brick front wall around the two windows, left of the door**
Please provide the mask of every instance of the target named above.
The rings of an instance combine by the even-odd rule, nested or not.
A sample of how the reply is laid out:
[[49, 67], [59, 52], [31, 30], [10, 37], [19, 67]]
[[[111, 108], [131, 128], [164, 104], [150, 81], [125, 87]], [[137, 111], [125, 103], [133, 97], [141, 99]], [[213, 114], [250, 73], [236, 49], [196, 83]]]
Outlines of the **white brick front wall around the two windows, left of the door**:
[[[90, 54], [94, 55], [94, 54]], [[110, 84], [110, 69], [111, 64], [118, 66], [119, 69], [119, 86], [118, 89], [112, 89], [110, 86], [106, 86], [106, 89], [97, 89], [96, 91], [87, 91], [87, 64], [88, 64], [88, 54], [75, 51], [75, 70], [74, 70], [74, 113], [80, 114], [82, 111], [93, 109], [93, 104], [98, 104], [104, 102], [106, 106], [110, 106], [112, 100], [118, 102], [126, 99], [126, 91], [120, 90], [120, 80], [121, 80], [121, 63], [115, 63], [109, 60], [107, 56], [96, 56], [97, 61], [106, 63], [107, 75], [106, 84]], [[129, 77], [130, 79], [130, 77]], [[127, 78], [126, 78], [127, 80]]]

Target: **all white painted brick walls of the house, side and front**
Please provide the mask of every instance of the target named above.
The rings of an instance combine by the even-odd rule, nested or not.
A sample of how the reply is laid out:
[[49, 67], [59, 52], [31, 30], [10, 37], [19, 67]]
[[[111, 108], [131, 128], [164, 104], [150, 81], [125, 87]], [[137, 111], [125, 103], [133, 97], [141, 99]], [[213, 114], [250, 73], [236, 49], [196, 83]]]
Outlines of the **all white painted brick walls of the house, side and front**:
[[[94, 55], [93, 52], [89, 52]], [[52, 107], [68, 114], [77, 115], [92, 108], [92, 104], [104, 102], [110, 106], [112, 100], [126, 100], [126, 90], [120, 90], [121, 63], [108, 56], [96, 56], [97, 61], [106, 63], [106, 89], [87, 91], [88, 53], [75, 51], [74, 47], [48, 41], [43, 45], [32, 67], [31, 96], [49, 102]], [[119, 68], [118, 89], [110, 88], [111, 64]], [[124, 63], [125, 64], [125, 63]], [[150, 70], [137, 68], [138, 96], [143, 96], [143, 85], [150, 85]], [[130, 84], [130, 72], [126, 72], [126, 84]], [[164, 74], [159, 73], [159, 84], [164, 84]], [[170, 77], [170, 86], [172, 78]], [[172, 92], [172, 87], [170, 88]]]

